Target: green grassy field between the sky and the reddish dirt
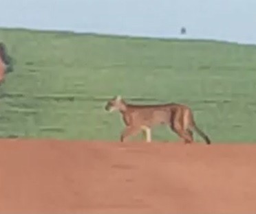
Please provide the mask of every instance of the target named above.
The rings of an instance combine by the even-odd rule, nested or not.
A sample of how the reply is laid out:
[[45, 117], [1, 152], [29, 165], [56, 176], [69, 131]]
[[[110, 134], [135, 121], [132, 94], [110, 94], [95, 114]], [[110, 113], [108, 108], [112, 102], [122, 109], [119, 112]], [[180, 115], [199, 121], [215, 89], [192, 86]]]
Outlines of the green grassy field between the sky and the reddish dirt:
[[[1, 137], [118, 140], [120, 115], [103, 107], [122, 95], [189, 104], [212, 141], [256, 142], [256, 46], [23, 29], [0, 29], [0, 40], [14, 58]], [[160, 126], [153, 139], [178, 137]]]

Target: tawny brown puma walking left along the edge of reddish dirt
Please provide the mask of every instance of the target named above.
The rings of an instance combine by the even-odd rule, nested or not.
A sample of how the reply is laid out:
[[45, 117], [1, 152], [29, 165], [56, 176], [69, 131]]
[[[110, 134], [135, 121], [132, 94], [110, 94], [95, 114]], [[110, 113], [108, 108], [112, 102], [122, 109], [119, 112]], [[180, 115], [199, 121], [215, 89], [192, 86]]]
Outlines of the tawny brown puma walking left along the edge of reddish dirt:
[[107, 102], [105, 110], [117, 110], [121, 113], [126, 126], [120, 136], [122, 142], [140, 131], [144, 132], [146, 141], [151, 142], [153, 126], [165, 124], [178, 134], [184, 143], [193, 142], [194, 130], [207, 144], [211, 144], [209, 136], [196, 126], [191, 108], [182, 104], [134, 105], [116, 96]]

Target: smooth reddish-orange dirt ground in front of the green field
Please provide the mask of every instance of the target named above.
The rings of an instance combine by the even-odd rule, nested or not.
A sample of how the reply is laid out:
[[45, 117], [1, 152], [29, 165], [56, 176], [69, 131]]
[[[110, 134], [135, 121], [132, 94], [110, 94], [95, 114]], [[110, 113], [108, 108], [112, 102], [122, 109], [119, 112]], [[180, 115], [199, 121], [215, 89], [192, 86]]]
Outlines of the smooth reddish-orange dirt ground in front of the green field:
[[0, 213], [256, 213], [256, 145], [1, 140]]

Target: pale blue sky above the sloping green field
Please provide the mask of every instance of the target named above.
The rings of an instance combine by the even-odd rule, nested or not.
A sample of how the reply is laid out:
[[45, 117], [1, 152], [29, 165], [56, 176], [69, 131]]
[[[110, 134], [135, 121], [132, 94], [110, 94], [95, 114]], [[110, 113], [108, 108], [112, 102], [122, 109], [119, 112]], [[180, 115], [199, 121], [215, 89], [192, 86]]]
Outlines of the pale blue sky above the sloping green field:
[[[0, 0], [0, 26], [256, 44], [256, 0]], [[184, 36], [182, 36], [184, 37]]]

